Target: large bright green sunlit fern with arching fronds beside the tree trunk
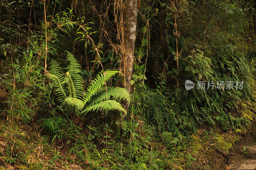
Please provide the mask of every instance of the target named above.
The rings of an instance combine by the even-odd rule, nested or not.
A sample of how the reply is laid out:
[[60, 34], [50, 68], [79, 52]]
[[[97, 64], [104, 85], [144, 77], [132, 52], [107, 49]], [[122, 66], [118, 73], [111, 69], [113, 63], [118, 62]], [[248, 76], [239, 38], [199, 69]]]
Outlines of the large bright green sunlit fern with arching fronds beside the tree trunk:
[[[84, 114], [90, 111], [97, 111], [99, 108], [105, 111], [118, 110], [126, 114], [126, 110], [116, 100], [130, 101], [129, 92], [120, 87], [106, 87], [106, 90], [103, 88], [106, 82], [116, 75], [118, 71], [109, 70], [97, 75], [87, 88], [87, 92], [83, 93], [84, 86], [81, 76], [81, 66], [72, 54], [67, 53], [67, 61], [70, 64], [67, 67], [68, 71], [65, 74], [65, 78], [56, 61], [52, 61], [48, 76], [50, 78], [50, 86], [57, 97], [57, 102], [63, 108], [64, 112], [68, 110], [71, 119], [76, 122], [79, 122], [81, 116], [84, 116]], [[63, 82], [60, 82], [60, 79]], [[111, 96], [113, 96], [114, 100], [110, 100]]]

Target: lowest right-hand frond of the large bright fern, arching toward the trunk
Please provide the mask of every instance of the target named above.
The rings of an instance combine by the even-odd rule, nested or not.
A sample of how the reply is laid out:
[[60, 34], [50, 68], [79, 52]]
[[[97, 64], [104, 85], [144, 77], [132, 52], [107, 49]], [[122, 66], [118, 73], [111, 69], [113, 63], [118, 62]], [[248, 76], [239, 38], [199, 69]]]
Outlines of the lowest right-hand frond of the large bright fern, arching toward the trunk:
[[125, 115], [127, 114], [126, 110], [122, 107], [120, 103], [118, 103], [115, 100], [107, 100], [107, 101], [101, 101], [100, 103], [97, 103], [93, 106], [87, 107], [85, 110], [83, 110], [81, 113], [86, 113], [90, 111], [95, 111], [101, 107], [102, 110], [118, 110], [121, 112], [124, 112]]

